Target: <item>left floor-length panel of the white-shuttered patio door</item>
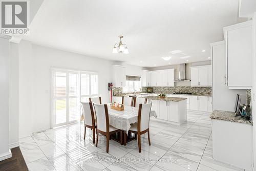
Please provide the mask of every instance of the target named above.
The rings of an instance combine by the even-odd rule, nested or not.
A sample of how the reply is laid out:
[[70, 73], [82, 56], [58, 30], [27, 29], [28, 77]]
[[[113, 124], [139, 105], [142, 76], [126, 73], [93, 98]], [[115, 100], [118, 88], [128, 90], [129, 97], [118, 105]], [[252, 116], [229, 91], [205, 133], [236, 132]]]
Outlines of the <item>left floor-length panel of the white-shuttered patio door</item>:
[[78, 121], [78, 72], [53, 70], [53, 126]]

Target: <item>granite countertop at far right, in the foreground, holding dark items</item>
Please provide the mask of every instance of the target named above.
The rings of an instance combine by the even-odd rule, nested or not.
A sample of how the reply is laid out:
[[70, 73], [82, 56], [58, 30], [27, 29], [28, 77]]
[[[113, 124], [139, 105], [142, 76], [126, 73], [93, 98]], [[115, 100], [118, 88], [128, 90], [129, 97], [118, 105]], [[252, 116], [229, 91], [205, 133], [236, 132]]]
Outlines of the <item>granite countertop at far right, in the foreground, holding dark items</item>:
[[226, 121], [230, 121], [230, 122], [238, 122], [238, 123], [245, 123], [245, 124], [252, 125], [252, 123], [250, 121], [248, 121], [248, 120], [246, 120], [242, 117], [234, 116], [234, 112], [229, 112], [229, 111], [215, 110], [210, 115], [210, 118], [211, 119], [226, 120]]

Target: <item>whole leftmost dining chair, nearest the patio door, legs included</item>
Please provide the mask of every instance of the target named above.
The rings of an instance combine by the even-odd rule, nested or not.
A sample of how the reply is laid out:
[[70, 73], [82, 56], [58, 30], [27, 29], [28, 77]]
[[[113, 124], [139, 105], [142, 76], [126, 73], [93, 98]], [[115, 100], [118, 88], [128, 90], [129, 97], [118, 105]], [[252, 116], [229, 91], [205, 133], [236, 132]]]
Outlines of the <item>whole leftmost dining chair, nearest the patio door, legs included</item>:
[[80, 102], [82, 115], [83, 115], [83, 123], [84, 123], [84, 136], [83, 139], [86, 139], [86, 127], [93, 130], [93, 143], [95, 143], [95, 130], [97, 128], [97, 124], [94, 119], [93, 113], [93, 104], [92, 102]]

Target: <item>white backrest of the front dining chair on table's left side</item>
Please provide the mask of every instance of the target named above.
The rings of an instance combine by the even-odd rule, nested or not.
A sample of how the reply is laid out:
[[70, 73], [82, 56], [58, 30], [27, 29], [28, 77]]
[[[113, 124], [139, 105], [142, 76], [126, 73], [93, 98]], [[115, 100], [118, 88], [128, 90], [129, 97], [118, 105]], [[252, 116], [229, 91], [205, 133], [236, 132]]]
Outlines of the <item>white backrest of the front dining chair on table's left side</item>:
[[97, 129], [103, 132], [109, 132], [109, 111], [106, 104], [96, 104], [93, 103], [96, 120], [97, 120]]

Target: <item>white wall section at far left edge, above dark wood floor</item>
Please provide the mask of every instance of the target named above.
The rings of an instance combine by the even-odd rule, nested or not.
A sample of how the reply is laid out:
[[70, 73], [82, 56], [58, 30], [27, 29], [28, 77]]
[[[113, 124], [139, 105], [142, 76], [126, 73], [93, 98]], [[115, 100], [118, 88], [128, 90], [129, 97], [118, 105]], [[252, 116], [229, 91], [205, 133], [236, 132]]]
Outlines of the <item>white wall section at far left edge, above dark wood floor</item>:
[[0, 37], [0, 161], [11, 157], [9, 150], [9, 39]]

